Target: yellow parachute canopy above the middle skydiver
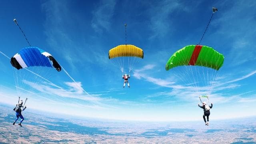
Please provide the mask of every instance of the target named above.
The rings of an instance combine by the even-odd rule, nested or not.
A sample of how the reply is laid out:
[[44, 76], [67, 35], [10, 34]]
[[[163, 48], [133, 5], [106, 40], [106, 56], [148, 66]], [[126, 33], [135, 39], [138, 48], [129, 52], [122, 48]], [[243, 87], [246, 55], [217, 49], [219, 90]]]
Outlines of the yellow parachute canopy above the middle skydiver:
[[143, 58], [144, 54], [141, 48], [138, 48], [130, 44], [116, 46], [115, 48], [112, 48], [108, 52], [109, 59], [121, 57], [121, 56], [132, 56], [132, 57]]

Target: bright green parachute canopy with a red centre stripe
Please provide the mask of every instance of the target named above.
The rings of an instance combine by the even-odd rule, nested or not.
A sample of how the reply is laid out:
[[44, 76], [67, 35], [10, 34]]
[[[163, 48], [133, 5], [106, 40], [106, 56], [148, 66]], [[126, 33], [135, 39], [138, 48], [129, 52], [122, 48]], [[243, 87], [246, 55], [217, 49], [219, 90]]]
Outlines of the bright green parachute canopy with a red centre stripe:
[[165, 69], [176, 66], [204, 66], [219, 70], [223, 65], [224, 56], [208, 46], [189, 45], [176, 51], [166, 63]]

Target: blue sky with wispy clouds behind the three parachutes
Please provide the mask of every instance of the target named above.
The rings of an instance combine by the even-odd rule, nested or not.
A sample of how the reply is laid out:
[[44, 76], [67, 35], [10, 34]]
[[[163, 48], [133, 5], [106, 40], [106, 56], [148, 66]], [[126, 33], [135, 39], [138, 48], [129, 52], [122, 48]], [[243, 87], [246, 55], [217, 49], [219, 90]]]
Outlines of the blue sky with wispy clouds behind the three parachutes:
[[[178, 49], [198, 44], [212, 6], [218, 12], [201, 44], [222, 53], [225, 60], [210, 94], [210, 117], [255, 116], [254, 0], [1, 1], [0, 102], [14, 105], [20, 95], [29, 98], [30, 109], [72, 116], [201, 120], [198, 95], [189, 83], [166, 71], [165, 64]], [[24, 70], [16, 88], [16, 70], [6, 56], [28, 44], [13, 18], [32, 46], [52, 54], [76, 82], [64, 70], [31, 68], [44, 79]], [[125, 44], [124, 24], [127, 43], [144, 50], [144, 59], [131, 72], [131, 88], [122, 88], [122, 72], [108, 59], [108, 50]]]

